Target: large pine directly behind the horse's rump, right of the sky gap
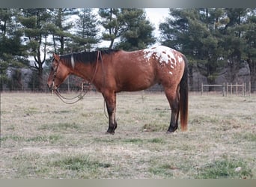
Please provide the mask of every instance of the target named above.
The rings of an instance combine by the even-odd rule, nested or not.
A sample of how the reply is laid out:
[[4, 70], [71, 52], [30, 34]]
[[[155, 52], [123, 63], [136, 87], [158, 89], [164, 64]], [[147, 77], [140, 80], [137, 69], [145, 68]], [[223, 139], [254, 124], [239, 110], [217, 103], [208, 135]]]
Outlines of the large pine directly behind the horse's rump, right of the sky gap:
[[159, 25], [162, 44], [180, 50], [189, 58], [190, 84], [193, 68], [198, 68], [209, 84], [222, 70], [219, 40], [209, 9], [170, 9], [170, 16]]

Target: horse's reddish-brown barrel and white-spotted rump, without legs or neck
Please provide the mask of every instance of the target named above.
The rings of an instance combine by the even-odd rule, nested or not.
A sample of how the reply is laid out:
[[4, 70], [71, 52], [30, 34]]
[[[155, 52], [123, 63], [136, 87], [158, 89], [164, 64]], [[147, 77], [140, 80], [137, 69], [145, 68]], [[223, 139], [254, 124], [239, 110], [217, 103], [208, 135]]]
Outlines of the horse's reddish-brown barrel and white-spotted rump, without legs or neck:
[[119, 51], [112, 58], [112, 75], [118, 91], [140, 91], [156, 83], [177, 87], [184, 67], [183, 54], [166, 46]]

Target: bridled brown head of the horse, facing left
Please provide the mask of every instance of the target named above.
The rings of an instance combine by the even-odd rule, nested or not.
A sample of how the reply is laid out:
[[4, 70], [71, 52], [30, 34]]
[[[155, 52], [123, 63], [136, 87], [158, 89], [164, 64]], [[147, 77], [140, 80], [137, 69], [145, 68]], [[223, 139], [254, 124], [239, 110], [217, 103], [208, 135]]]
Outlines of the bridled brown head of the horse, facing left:
[[59, 55], [53, 54], [52, 67], [51, 72], [49, 73], [47, 85], [49, 89], [57, 89], [67, 76], [69, 76], [70, 72], [61, 61]]

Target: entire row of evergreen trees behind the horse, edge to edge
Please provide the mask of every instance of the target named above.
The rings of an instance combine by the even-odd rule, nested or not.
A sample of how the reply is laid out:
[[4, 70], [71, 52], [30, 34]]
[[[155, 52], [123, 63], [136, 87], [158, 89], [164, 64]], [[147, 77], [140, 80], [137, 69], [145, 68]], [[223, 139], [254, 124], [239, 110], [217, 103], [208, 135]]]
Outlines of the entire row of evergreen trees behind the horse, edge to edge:
[[[0, 9], [0, 90], [22, 90], [25, 81], [44, 91], [53, 52], [100, 49], [104, 40], [109, 49], [132, 51], [158, 42], [183, 52], [191, 87], [195, 71], [214, 84], [222, 73], [235, 82], [238, 71], [249, 67], [256, 88], [256, 9], [170, 9], [166, 16], [156, 38], [144, 9]], [[70, 82], [77, 85], [77, 79]]]

